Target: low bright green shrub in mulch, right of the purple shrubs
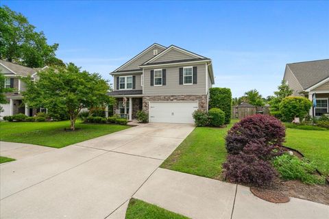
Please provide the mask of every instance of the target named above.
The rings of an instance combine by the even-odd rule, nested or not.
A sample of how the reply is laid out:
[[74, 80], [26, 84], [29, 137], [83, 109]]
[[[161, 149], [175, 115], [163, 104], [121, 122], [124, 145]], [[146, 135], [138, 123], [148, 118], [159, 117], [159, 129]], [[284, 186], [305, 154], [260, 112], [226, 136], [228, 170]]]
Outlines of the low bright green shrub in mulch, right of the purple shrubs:
[[283, 154], [273, 159], [273, 166], [280, 173], [282, 179], [299, 179], [306, 184], [324, 184], [324, 177], [314, 175], [315, 164], [307, 159]]

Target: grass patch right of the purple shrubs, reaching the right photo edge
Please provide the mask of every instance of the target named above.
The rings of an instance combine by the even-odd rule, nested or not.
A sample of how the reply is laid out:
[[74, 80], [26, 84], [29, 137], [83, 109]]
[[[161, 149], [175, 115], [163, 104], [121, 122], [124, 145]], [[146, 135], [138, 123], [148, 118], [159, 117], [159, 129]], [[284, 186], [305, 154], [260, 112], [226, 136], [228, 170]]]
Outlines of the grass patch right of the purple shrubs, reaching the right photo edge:
[[322, 174], [329, 175], [329, 130], [287, 129], [284, 145], [300, 151]]

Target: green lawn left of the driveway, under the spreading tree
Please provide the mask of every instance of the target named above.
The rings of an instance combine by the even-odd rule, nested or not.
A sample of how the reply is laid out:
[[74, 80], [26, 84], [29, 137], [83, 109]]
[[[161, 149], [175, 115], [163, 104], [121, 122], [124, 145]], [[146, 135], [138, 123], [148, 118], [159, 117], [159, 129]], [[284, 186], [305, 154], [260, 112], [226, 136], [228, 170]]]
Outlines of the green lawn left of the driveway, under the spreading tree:
[[64, 128], [69, 127], [69, 121], [0, 123], [0, 140], [62, 148], [70, 144], [129, 128], [125, 125], [91, 125], [77, 122], [75, 131], [64, 131]]

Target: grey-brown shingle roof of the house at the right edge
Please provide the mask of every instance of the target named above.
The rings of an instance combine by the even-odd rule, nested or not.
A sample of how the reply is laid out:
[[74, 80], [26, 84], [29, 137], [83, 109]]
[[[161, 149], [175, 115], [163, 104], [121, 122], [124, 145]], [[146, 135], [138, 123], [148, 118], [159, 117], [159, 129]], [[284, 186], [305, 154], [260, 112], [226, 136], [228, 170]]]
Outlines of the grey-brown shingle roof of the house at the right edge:
[[302, 88], [306, 90], [329, 77], [329, 59], [287, 64]]

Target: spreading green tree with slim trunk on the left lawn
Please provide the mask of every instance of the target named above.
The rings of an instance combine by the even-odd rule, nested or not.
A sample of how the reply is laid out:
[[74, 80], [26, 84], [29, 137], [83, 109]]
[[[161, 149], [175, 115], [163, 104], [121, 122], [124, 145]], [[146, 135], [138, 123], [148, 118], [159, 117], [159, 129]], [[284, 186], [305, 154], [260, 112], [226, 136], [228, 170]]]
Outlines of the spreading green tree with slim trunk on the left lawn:
[[81, 71], [72, 63], [65, 68], [42, 70], [38, 77], [36, 82], [30, 77], [22, 78], [27, 85], [23, 92], [24, 103], [30, 107], [64, 110], [71, 120], [71, 130], [75, 130], [75, 120], [83, 108], [105, 107], [114, 103], [107, 94], [108, 81], [97, 73]]

